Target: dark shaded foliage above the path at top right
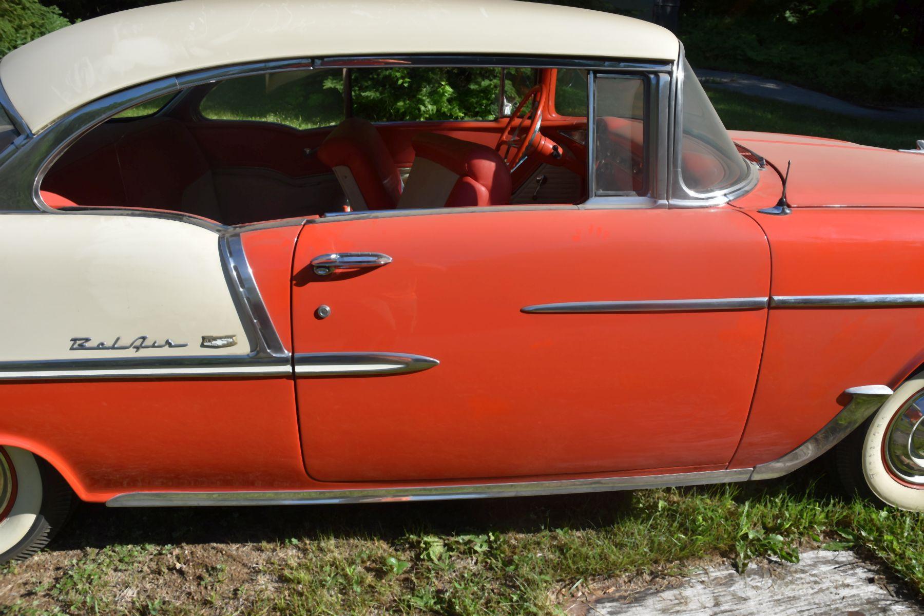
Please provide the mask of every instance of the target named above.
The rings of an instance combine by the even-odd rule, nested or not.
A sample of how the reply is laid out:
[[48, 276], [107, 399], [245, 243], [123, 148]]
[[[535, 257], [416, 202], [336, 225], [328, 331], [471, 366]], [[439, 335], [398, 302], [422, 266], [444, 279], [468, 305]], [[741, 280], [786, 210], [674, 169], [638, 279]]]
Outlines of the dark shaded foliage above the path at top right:
[[685, 4], [680, 36], [694, 68], [781, 79], [861, 104], [924, 105], [924, 0], [742, 6]]

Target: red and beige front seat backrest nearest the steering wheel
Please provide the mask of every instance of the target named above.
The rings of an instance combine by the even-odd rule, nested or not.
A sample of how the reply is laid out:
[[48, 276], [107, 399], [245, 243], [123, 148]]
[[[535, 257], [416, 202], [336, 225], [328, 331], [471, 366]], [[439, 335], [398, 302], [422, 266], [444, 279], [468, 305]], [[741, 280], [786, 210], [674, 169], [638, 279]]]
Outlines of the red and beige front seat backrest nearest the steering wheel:
[[510, 170], [491, 148], [435, 133], [411, 141], [414, 165], [398, 207], [467, 208], [510, 203]]

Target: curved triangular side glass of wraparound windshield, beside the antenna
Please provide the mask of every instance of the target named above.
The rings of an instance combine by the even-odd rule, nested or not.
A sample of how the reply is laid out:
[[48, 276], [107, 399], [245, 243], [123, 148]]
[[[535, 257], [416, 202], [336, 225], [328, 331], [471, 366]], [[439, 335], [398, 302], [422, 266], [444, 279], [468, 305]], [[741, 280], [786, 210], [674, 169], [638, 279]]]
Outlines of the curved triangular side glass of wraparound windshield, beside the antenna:
[[686, 61], [682, 96], [680, 171], [684, 185], [694, 192], [709, 193], [741, 184], [748, 177], [748, 163]]

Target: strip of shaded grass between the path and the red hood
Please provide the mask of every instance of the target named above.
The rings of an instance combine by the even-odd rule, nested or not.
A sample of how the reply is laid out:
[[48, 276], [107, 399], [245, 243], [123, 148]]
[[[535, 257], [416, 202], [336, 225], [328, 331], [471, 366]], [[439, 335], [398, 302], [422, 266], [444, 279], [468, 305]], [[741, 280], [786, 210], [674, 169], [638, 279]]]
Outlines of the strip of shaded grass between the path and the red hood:
[[706, 91], [730, 130], [757, 130], [843, 139], [880, 148], [914, 149], [924, 122], [873, 121], [710, 88]]

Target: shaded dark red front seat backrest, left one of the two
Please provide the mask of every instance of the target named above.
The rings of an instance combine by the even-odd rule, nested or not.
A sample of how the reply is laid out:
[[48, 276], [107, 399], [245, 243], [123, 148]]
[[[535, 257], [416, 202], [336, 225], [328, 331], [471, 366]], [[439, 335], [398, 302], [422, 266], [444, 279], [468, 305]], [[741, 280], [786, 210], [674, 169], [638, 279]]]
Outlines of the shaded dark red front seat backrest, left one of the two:
[[351, 117], [341, 122], [318, 148], [318, 159], [334, 170], [353, 211], [397, 207], [401, 176], [369, 121]]

